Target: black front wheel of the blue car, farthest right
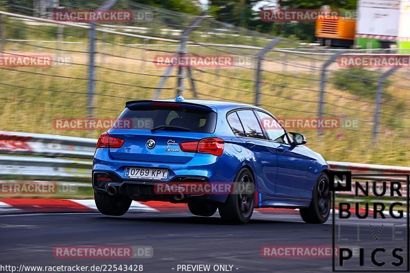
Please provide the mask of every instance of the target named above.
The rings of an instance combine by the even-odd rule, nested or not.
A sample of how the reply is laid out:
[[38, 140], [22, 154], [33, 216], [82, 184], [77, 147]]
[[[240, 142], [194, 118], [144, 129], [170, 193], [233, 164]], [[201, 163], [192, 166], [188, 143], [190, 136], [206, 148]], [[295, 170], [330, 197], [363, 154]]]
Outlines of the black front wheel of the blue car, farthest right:
[[330, 201], [329, 177], [323, 173], [313, 188], [310, 206], [299, 209], [303, 221], [310, 224], [323, 224], [326, 222], [330, 214]]

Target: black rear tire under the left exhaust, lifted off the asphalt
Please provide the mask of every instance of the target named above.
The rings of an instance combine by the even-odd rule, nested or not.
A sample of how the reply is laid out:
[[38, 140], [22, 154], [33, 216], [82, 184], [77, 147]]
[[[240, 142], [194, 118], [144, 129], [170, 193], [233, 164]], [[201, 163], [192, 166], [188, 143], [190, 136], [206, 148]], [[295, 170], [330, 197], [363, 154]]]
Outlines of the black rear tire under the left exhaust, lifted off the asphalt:
[[124, 195], [108, 195], [94, 192], [95, 205], [105, 215], [121, 216], [128, 212], [132, 199]]

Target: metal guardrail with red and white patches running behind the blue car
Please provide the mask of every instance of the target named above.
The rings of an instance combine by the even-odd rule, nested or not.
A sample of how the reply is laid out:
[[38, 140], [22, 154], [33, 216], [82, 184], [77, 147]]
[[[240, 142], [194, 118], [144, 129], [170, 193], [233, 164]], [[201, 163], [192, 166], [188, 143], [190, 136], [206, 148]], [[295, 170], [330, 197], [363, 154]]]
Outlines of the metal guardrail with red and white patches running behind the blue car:
[[[90, 138], [0, 131], [0, 154], [19, 155], [0, 155], [0, 178], [90, 182], [92, 162], [75, 159], [92, 159], [96, 142], [96, 139]], [[404, 177], [395, 175], [410, 174], [410, 167], [337, 161], [327, 163], [331, 170], [363, 174], [365, 176], [361, 178], [364, 179], [385, 174], [378, 179], [406, 181]]]

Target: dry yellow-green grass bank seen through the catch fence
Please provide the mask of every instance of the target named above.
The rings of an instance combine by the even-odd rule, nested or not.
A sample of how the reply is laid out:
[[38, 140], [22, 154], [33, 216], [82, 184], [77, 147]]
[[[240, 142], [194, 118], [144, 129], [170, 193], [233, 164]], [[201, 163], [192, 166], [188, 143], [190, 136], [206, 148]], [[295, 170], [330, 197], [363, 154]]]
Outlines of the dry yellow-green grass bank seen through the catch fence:
[[[115, 39], [116, 43], [121, 41], [120, 38]], [[51, 43], [47, 44], [47, 47], [56, 48], [56, 45]], [[83, 52], [88, 50], [86, 44], [64, 44], [63, 49]], [[97, 68], [99, 81], [96, 82], [96, 94], [94, 95], [94, 117], [115, 118], [124, 109], [127, 100], [152, 98], [160, 78], [135, 73], [162, 75], [165, 68], [158, 68], [151, 62], [137, 59], [152, 60], [155, 54], [161, 53], [124, 46], [99, 46], [97, 50], [105, 53], [105, 55], [97, 55], [97, 65], [109, 69]], [[208, 49], [197, 48], [196, 50], [200, 54], [210, 53]], [[15, 54], [56, 54], [55, 50], [11, 42], [6, 45], [5, 51]], [[56, 118], [87, 117], [88, 82], [79, 78], [87, 78], [88, 70], [84, 64], [88, 61], [88, 55], [70, 51], [60, 52], [60, 54], [70, 56], [78, 65], [53, 68], [12, 68], [19, 71], [0, 70], [2, 130], [92, 138], [99, 136], [100, 131], [61, 131], [54, 128], [53, 120]], [[110, 55], [120, 55], [126, 58]], [[289, 68], [285, 71], [280, 65], [280, 56], [276, 57], [279, 58], [278, 62], [273, 60], [264, 66], [271, 72], [263, 74], [264, 83], [261, 91], [263, 108], [282, 118], [317, 117], [319, 74], [305, 70], [292, 71]], [[128, 71], [128, 73], [115, 70]], [[252, 69], [229, 68], [206, 71], [219, 74], [219, 76], [194, 71], [194, 77], [199, 80], [196, 82], [199, 98], [254, 102], [254, 82], [252, 81], [254, 71]], [[176, 70], [173, 71], [173, 75], [175, 74]], [[394, 82], [408, 86], [408, 81], [405, 80], [408, 75], [402, 72], [397, 72], [397, 75], [401, 78], [394, 78]], [[346, 78], [346, 80], [355, 79]], [[186, 86], [188, 87], [188, 81]], [[175, 87], [175, 78], [170, 78], [166, 88], [171, 89], [162, 91], [160, 98], [174, 98]], [[315, 130], [299, 131], [308, 138], [308, 145], [327, 160], [409, 165], [410, 102], [398, 99], [398, 97], [408, 98], [408, 90], [391, 87], [387, 92], [392, 95], [392, 98], [383, 103], [381, 133], [375, 143], [372, 143], [371, 137], [375, 109], [374, 98], [369, 99], [337, 90], [330, 82], [327, 84], [325, 94], [326, 117], [359, 119], [361, 120], [360, 128], [325, 130], [321, 136]], [[183, 95], [186, 98], [193, 97], [190, 91], [186, 91]]]

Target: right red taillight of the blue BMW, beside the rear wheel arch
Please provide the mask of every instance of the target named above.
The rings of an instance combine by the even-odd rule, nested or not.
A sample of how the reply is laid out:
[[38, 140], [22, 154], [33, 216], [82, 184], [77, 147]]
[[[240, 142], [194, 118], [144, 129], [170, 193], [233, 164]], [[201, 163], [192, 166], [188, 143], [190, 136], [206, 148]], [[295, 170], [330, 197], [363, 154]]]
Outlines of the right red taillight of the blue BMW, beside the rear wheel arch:
[[179, 144], [183, 152], [204, 153], [221, 156], [224, 141], [217, 137], [202, 138], [199, 141], [182, 142]]

